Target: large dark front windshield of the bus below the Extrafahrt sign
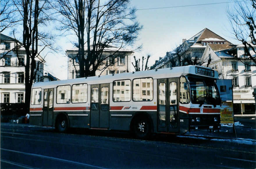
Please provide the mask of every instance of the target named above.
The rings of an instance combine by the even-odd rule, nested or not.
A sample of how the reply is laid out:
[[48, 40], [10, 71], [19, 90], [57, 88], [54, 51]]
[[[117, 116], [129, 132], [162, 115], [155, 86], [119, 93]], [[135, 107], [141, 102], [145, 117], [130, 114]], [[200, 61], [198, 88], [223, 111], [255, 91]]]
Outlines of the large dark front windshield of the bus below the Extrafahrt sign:
[[189, 77], [191, 102], [194, 104], [220, 104], [220, 95], [213, 79]]

